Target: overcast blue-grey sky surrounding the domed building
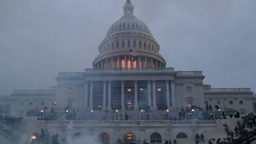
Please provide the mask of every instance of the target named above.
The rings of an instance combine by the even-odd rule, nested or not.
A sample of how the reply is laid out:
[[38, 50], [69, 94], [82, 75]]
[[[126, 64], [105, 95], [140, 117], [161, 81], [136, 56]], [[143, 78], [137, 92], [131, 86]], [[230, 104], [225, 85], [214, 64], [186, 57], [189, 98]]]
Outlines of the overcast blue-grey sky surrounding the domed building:
[[[0, 95], [49, 89], [92, 68], [125, 0], [0, 0]], [[167, 67], [203, 71], [214, 88], [256, 92], [256, 1], [132, 0]]]

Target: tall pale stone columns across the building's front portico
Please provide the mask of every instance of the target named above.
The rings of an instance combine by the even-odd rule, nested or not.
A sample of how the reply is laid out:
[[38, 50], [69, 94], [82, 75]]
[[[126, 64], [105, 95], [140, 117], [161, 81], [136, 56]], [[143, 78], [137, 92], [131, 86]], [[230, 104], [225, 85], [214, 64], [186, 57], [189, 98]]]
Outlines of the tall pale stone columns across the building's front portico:
[[[151, 81], [153, 90], [153, 105], [151, 105]], [[176, 92], [175, 92], [175, 81], [165, 80], [166, 85], [166, 105], [170, 108], [170, 95], [169, 95], [169, 81], [171, 81], [171, 95], [172, 95], [172, 107], [176, 107]], [[108, 83], [108, 99], [106, 99], [106, 85]], [[89, 95], [88, 86], [90, 85]], [[153, 110], [157, 109], [156, 106], [156, 80], [147, 80], [147, 96], [148, 96], [148, 106], [152, 106]], [[89, 105], [88, 105], [89, 96]], [[108, 107], [106, 107], [106, 101], [108, 101]], [[86, 108], [92, 109], [93, 107], [93, 81], [85, 81], [84, 84], [84, 103]], [[121, 81], [121, 106], [122, 110], [125, 108], [124, 103], [124, 80]], [[111, 110], [111, 81], [103, 81], [103, 104], [102, 110], [108, 108]], [[134, 81], [134, 110], [138, 110], [138, 93], [137, 93], [137, 80]]]

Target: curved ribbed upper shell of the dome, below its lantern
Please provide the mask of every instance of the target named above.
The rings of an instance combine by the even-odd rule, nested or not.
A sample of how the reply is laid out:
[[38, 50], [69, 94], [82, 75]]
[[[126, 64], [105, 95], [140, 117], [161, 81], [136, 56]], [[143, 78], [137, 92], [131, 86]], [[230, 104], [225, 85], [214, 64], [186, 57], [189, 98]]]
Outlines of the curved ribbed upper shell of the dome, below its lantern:
[[112, 33], [127, 30], [140, 31], [148, 34], [150, 37], [153, 37], [147, 25], [143, 23], [141, 20], [138, 20], [134, 15], [124, 15], [123, 17], [121, 17], [120, 20], [112, 24], [112, 26], [109, 28], [106, 34], [106, 37], [108, 37]]

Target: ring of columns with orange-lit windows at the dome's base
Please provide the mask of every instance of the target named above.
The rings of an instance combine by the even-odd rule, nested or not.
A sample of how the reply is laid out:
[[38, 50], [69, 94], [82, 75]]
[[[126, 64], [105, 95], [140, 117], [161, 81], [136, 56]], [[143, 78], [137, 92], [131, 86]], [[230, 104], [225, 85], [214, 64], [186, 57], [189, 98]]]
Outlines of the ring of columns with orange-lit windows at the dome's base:
[[116, 56], [97, 62], [93, 68], [164, 68], [165, 65], [157, 59], [146, 56], [136, 56], [135, 61], [129, 60], [129, 55]]

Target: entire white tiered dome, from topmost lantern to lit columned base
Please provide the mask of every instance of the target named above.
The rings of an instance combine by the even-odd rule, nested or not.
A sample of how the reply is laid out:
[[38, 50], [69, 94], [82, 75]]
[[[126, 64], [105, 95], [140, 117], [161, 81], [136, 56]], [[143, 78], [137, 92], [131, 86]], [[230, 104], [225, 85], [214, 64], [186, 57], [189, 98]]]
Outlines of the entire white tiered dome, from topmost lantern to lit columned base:
[[146, 24], [133, 15], [130, 0], [123, 9], [124, 15], [111, 25], [100, 43], [93, 68], [164, 68], [166, 62], [159, 54], [160, 46]]

